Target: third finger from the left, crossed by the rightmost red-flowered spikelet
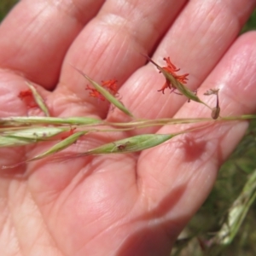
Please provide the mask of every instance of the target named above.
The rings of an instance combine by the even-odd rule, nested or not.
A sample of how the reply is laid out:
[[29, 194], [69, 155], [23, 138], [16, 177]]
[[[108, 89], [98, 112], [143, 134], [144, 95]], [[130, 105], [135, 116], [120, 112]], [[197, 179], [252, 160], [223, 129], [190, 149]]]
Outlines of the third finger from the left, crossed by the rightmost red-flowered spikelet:
[[[254, 7], [255, 1], [190, 1], [161, 41], [154, 61], [166, 66], [162, 58], [170, 56], [181, 68], [178, 74], [189, 73], [188, 87], [197, 89], [230, 47]], [[163, 75], [150, 63], [138, 70], [119, 94], [137, 117], [172, 117], [187, 98], [170, 95], [167, 90], [165, 95], [157, 91], [164, 83]], [[119, 111], [114, 111], [109, 113], [109, 119], [118, 120], [119, 115]], [[156, 130], [154, 127], [147, 132]]]

